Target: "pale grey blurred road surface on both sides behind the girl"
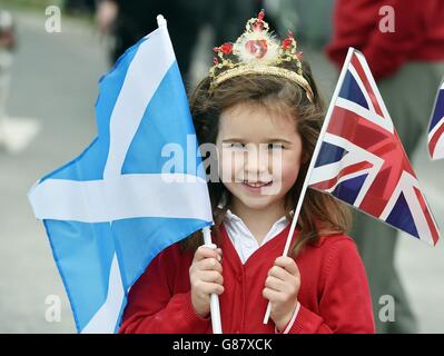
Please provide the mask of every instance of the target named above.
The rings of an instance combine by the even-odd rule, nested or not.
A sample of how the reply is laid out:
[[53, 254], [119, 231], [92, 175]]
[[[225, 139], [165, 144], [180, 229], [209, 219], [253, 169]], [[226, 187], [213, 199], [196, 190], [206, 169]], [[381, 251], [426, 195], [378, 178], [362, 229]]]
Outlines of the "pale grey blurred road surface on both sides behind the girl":
[[[11, 68], [7, 111], [17, 122], [30, 122], [34, 134], [14, 152], [0, 149], [0, 333], [73, 333], [68, 299], [27, 192], [45, 174], [78, 156], [96, 136], [97, 81], [108, 70], [108, 55], [87, 19], [63, 18], [61, 33], [47, 33], [43, 11], [13, 14], [20, 46]], [[207, 67], [208, 36], [205, 30], [200, 33], [195, 72]], [[335, 69], [319, 50], [305, 48], [304, 53], [329, 99]], [[428, 121], [428, 115], [424, 120]], [[432, 164], [425, 147], [424, 142], [415, 152], [413, 165], [442, 229], [444, 161]], [[443, 241], [431, 248], [402, 238], [396, 265], [420, 330], [444, 333]], [[46, 320], [48, 296], [60, 297], [60, 322]]]

